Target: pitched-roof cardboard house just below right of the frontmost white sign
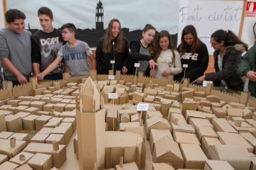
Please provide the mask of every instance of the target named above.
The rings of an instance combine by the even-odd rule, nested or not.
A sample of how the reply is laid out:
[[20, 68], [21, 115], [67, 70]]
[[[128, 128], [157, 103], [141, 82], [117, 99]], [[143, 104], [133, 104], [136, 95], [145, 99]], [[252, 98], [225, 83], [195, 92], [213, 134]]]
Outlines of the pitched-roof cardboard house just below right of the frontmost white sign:
[[147, 139], [150, 139], [150, 131], [151, 129], [169, 129], [171, 132], [171, 125], [168, 120], [161, 118], [159, 116], [153, 116], [152, 118], [147, 119], [145, 124], [145, 131], [147, 134]]

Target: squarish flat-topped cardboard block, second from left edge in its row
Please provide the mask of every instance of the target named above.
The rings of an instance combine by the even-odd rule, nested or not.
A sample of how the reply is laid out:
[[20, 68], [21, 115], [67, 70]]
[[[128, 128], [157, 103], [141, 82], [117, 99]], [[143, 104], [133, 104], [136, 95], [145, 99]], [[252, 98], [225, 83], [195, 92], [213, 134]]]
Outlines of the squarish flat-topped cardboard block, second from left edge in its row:
[[8, 132], [19, 132], [22, 129], [22, 118], [16, 115], [7, 115], [6, 127]]

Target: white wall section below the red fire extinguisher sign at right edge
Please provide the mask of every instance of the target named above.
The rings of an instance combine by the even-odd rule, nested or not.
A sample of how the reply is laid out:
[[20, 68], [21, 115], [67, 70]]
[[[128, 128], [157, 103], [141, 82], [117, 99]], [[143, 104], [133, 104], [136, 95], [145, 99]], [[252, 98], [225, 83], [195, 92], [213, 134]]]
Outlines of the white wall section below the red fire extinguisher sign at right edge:
[[[250, 0], [256, 2], [256, 0]], [[244, 26], [242, 28], [242, 38], [241, 40], [248, 44], [248, 47], [254, 46], [255, 36], [253, 26], [256, 23], [256, 17], [244, 17]], [[256, 28], [255, 28], [256, 31]]]

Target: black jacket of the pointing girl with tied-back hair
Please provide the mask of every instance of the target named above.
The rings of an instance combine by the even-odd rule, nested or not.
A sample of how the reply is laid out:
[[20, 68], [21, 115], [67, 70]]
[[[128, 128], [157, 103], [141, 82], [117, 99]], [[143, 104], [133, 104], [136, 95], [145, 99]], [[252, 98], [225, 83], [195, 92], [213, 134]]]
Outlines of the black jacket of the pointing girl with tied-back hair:
[[[130, 57], [134, 59], [134, 63], [138, 63], [139, 61], [145, 60], [149, 62], [150, 60], [152, 60], [152, 57], [150, 55], [140, 54], [140, 39], [130, 42]], [[135, 74], [135, 67], [133, 70]], [[149, 76], [149, 74], [150, 68], [148, 66], [147, 70], [145, 71], [145, 76]]]

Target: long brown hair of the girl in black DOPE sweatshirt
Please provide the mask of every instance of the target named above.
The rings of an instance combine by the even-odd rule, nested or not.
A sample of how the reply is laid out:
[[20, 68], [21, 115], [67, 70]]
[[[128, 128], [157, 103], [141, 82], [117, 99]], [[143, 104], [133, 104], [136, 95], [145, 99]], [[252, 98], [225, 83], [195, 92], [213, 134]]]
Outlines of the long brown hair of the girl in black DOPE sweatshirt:
[[192, 47], [190, 48], [192, 55], [194, 55], [200, 48], [202, 41], [198, 38], [197, 30], [195, 30], [195, 27], [193, 25], [187, 25], [182, 30], [181, 47], [179, 47], [179, 51], [181, 52], [182, 55], [186, 52], [187, 46], [189, 46], [189, 44], [187, 44], [187, 42], [184, 39], [184, 36], [186, 36], [187, 34], [192, 34], [194, 36], [194, 42], [192, 44]]

